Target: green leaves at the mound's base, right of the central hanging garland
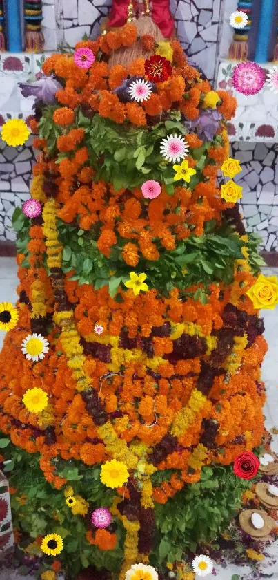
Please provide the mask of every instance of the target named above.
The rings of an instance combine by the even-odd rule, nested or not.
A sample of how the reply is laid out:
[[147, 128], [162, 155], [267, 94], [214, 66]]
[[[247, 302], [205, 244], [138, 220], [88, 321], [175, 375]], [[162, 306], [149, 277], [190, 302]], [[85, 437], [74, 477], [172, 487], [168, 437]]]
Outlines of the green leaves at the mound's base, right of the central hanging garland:
[[[152, 476], [153, 478], [153, 476]], [[157, 482], [156, 482], [157, 484]], [[214, 540], [235, 516], [251, 483], [237, 478], [232, 467], [204, 467], [201, 480], [187, 485], [165, 505], [156, 505], [157, 546], [152, 562], [181, 559], [183, 550]]]

